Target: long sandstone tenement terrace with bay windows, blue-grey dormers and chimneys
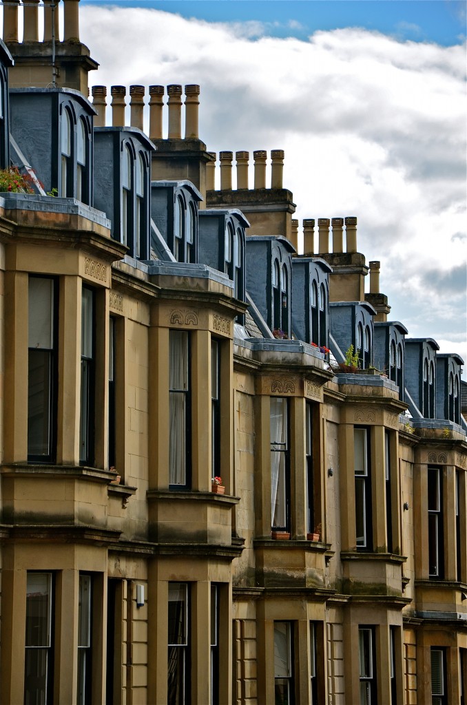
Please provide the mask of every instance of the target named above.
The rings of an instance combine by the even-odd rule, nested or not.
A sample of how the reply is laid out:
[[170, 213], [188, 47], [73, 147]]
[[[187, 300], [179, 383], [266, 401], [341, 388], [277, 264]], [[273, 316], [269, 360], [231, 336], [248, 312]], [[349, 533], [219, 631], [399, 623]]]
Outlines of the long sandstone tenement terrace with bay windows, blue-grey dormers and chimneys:
[[146, 136], [95, 68], [78, 1], [4, 4], [0, 701], [465, 705], [463, 361], [356, 217], [298, 254], [284, 152], [216, 190], [199, 87]]

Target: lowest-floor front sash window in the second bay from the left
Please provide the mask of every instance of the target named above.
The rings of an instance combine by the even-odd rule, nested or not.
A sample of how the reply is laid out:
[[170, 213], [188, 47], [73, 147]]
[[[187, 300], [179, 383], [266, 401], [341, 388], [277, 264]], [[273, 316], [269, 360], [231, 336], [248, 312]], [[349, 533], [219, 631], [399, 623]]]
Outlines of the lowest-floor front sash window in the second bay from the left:
[[168, 705], [188, 705], [190, 702], [188, 609], [188, 584], [169, 582]]

